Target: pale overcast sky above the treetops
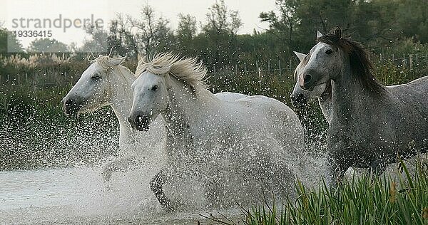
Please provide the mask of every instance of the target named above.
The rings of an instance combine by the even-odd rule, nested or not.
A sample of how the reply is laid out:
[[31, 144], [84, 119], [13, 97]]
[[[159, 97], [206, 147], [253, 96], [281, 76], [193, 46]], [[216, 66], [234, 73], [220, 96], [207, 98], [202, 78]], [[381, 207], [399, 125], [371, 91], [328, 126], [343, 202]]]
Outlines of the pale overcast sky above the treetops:
[[[80, 21], [93, 18], [91, 21], [95, 22], [101, 19], [103, 23], [98, 20], [97, 24], [107, 28], [108, 22], [118, 13], [138, 17], [144, 4], [152, 6], [158, 16], [168, 19], [170, 27], [174, 29], [178, 25], [178, 13], [191, 14], [198, 21], [204, 22], [208, 7], [212, 6], [215, 0], [0, 0], [0, 2], [0, 23], [4, 23], [11, 31], [20, 32], [21, 36], [27, 31], [27, 37], [19, 38], [23, 46], [27, 47], [34, 40], [34, 37], [28, 37], [28, 31], [38, 31], [38, 36], [47, 36], [51, 33], [51, 38], [80, 46], [85, 39], [91, 38], [79, 28]], [[268, 25], [260, 22], [258, 18], [260, 12], [275, 9], [275, 0], [225, 0], [225, 4], [228, 9], [239, 11], [243, 26], [238, 33], [253, 33], [253, 29], [263, 31]], [[49, 26], [49, 23], [61, 28], [44, 28], [44, 24]]]

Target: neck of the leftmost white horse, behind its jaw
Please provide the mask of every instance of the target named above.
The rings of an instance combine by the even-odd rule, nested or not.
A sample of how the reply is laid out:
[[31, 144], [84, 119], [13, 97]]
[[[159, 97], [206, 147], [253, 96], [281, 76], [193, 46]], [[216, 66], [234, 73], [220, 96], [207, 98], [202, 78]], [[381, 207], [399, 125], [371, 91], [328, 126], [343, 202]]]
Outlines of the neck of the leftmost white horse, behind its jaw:
[[135, 77], [133, 73], [126, 70], [123, 66], [118, 66], [111, 83], [112, 94], [110, 104], [119, 121], [120, 145], [127, 142], [126, 140], [131, 139], [131, 135], [135, 132], [127, 119], [132, 107], [133, 93], [131, 85], [134, 80]]

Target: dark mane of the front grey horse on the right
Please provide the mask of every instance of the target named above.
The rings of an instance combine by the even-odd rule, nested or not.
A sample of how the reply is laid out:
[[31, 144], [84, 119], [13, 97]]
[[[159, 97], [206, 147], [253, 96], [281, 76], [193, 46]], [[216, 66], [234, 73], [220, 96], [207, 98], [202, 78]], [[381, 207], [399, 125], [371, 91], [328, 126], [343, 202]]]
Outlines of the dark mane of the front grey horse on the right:
[[361, 43], [352, 41], [351, 38], [338, 37], [333, 30], [318, 38], [318, 41], [345, 51], [350, 57], [351, 74], [357, 76], [360, 84], [374, 94], [384, 93], [384, 85], [374, 77], [374, 66], [369, 59], [367, 49]]

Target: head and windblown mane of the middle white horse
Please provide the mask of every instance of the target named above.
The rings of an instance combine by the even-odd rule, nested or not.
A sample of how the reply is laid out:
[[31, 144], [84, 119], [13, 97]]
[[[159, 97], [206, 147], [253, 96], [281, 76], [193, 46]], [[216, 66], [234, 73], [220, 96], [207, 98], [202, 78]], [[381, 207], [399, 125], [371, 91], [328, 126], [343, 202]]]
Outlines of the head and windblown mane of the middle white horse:
[[136, 75], [128, 117], [136, 130], [147, 131], [150, 123], [168, 109], [170, 96], [178, 98], [173, 91], [190, 93], [197, 98], [198, 90], [206, 87], [206, 68], [196, 58], [181, 58], [171, 53], [158, 54], [151, 61], [142, 58]]

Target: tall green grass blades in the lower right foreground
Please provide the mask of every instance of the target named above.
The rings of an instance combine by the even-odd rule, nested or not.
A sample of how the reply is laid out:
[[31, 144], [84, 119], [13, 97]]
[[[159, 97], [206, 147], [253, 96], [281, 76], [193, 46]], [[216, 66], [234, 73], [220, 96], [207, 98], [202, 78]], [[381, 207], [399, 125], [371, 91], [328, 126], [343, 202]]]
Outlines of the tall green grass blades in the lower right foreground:
[[[243, 224], [428, 224], [428, 164], [404, 175], [352, 177], [337, 188], [296, 182], [297, 199], [245, 211]], [[232, 224], [224, 222], [223, 224]]]

